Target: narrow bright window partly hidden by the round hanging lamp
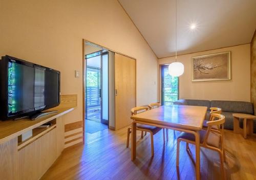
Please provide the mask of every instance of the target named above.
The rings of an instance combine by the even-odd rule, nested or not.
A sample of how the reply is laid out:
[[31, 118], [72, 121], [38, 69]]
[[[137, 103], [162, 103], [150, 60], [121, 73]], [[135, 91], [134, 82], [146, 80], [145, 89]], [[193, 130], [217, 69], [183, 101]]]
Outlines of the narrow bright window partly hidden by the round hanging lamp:
[[168, 65], [161, 66], [162, 105], [172, 105], [179, 100], [179, 78], [168, 73]]

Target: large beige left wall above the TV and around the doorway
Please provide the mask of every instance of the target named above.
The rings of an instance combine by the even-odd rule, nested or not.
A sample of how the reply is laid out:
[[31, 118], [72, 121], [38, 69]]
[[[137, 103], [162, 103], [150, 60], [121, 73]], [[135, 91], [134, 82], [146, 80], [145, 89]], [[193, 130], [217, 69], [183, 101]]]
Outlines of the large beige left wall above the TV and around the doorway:
[[0, 56], [61, 72], [61, 94], [77, 94], [66, 123], [82, 120], [82, 39], [137, 59], [137, 105], [157, 101], [157, 58], [116, 0], [0, 1]]

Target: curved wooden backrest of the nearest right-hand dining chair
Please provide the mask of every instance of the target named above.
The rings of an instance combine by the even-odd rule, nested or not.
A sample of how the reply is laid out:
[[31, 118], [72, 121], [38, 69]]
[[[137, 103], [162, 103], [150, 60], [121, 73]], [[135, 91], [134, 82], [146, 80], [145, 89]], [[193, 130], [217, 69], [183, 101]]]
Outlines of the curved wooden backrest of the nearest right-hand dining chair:
[[[214, 117], [214, 121], [208, 121], [207, 122], [207, 132], [206, 132], [206, 136], [204, 139], [203, 144], [207, 144], [207, 140], [209, 137], [210, 133], [216, 133], [219, 134], [219, 136], [221, 136], [221, 140], [223, 141], [223, 133], [224, 133], [224, 123], [225, 123], [225, 116], [220, 115], [220, 114], [211, 114], [212, 117]], [[216, 130], [212, 130], [211, 127], [212, 126], [218, 126], [219, 127], [219, 131]]]

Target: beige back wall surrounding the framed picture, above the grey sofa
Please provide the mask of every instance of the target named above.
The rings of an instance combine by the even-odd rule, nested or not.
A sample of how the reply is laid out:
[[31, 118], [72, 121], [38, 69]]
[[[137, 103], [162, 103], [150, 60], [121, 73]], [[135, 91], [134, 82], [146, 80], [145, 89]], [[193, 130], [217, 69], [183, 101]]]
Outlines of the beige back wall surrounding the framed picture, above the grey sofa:
[[[192, 82], [191, 58], [231, 51], [231, 80]], [[159, 64], [175, 61], [175, 57], [159, 59]], [[250, 44], [178, 56], [184, 64], [180, 76], [180, 99], [250, 101]]]

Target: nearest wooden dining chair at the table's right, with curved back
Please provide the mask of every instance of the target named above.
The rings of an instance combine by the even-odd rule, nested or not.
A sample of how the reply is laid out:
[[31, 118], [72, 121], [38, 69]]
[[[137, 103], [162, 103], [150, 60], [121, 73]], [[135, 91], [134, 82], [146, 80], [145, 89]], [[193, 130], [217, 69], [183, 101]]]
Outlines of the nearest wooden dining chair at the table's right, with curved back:
[[[222, 169], [222, 177], [226, 179], [225, 175], [225, 152], [224, 152], [224, 123], [225, 123], [225, 116], [220, 114], [211, 114], [211, 116], [218, 120], [212, 120], [207, 122], [207, 130], [201, 130], [200, 133], [200, 146], [204, 148], [208, 148], [211, 150], [215, 150], [220, 155], [221, 161], [221, 169]], [[212, 130], [212, 126], [219, 126], [219, 131]], [[176, 159], [176, 166], [179, 166], [179, 152], [180, 152], [180, 142], [186, 142], [186, 150], [187, 152], [191, 152], [189, 150], [189, 143], [195, 143], [195, 136], [191, 133], [182, 132], [178, 139], [177, 139], [177, 159]]]

